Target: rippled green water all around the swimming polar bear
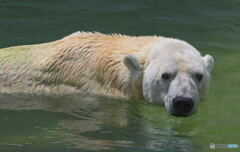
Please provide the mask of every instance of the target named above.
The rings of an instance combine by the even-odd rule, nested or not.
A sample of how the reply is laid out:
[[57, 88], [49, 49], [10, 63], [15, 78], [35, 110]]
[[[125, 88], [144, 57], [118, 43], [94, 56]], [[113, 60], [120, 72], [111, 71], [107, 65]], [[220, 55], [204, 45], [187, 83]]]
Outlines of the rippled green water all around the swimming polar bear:
[[196, 115], [170, 116], [144, 101], [84, 95], [0, 95], [3, 152], [188, 152], [240, 145], [239, 0], [0, 0], [0, 47], [72, 32], [163, 35], [215, 59], [211, 90]]

